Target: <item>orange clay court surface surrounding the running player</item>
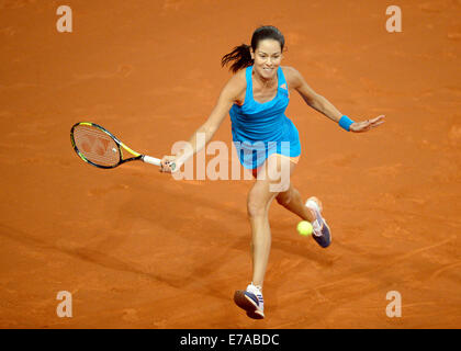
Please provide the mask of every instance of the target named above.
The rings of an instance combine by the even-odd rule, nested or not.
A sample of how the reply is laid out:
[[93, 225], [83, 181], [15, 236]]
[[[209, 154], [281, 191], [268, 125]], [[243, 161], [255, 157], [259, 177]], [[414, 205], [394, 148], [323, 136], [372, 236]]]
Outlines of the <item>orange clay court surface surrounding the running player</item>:
[[[58, 33], [56, 9], [72, 9]], [[1, 328], [460, 328], [461, 1], [0, 1]], [[105, 126], [161, 157], [207, 117], [221, 57], [273, 24], [282, 65], [355, 120], [346, 133], [295, 91], [292, 182], [318, 196], [322, 249], [277, 203], [267, 318], [233, 303], [251, 275], [252, 181], [177, 181], [142, 162], [100, 170], [70, 147]], [[232, 147], [227, 118], [214, 140]], [[59, 291], [72, 317], [59, 318]], [[402, 317], [386, 316], [387, 292]]]

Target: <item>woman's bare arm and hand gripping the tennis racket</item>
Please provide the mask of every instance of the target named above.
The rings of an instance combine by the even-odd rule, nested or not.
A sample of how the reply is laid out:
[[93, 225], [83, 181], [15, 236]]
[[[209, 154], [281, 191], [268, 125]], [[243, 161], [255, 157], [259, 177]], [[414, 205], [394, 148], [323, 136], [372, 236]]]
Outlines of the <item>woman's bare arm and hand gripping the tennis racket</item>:
[[[165, 156], [161, 159], [160, 171], [170, 172], [168, 165], [172, 162], [176, 163], [176, 169], [179, 170], [189, 158], [203, 149], [220, 128], [232, 105], [240, 101], [245, 90], [246, 80], [240, 71], [233, 76], [223, 88], [209, 118], [192, 134], [189, 143], [176, 156]], [[202, 137], [198, 137], [200, 134], [202, 134]]]

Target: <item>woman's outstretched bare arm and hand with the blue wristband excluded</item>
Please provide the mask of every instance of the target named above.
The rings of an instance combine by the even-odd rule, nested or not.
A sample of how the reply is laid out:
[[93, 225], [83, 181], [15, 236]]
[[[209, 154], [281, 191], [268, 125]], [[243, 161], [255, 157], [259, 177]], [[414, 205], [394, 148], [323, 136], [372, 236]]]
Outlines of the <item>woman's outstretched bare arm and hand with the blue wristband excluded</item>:
[[[289, 88], [295, 89], [308, 106], [318, 111], [331, 121], [339, 123], [339, 120], [344, 116], [344, 114], [338, 109], [336, 109], [333, 103], [330, 103], [323, 95], [316, 93], [296, 69], [292, 67], [285, 67], [284, 70], [286, 71]], [[370, 131], [371, 128], [376, 127], [382, 123], [384, 123], [384, 115], [380, 115], [367, 121], [355, 122], [350, 125], [349, 129], [351, 132], [361, 133]]]

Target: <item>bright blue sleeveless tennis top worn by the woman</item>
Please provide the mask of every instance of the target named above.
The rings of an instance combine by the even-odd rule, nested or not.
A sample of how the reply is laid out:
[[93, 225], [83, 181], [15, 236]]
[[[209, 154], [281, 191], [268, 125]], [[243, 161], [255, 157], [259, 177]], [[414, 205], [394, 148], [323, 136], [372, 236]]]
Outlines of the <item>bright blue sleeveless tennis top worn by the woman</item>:
[[252, 66], [246, 68], [247, 90], [243, 105], [229, 111], [233, 141], [240, 163], [247, 169], [261, 166], [271, 154], [289, 157], [301, 155], [296, 127], [284, 112], [290, 102], [282, 68], [277, 70], [277, 95], [260, 103], [252, 98]]

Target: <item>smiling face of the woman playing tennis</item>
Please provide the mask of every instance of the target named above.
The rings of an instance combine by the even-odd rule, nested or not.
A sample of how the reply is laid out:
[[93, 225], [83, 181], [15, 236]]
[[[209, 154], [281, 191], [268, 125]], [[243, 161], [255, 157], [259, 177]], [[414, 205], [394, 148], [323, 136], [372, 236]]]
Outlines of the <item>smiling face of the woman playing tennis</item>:
[[274, 39], [260, 41], [256, 50], [251, 50], [251, 58], [255, 60], [254, 69], [258, 75], [265, 79], [276, 77], [282, 61], [280, 43]]

